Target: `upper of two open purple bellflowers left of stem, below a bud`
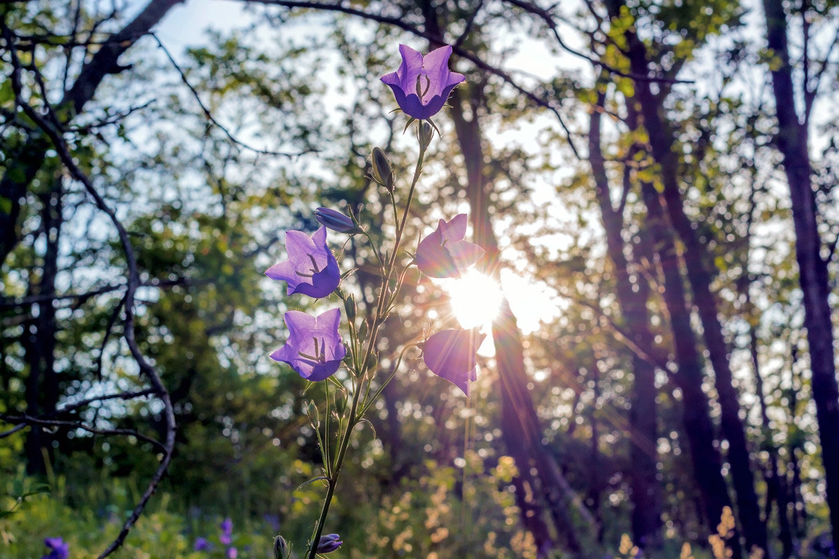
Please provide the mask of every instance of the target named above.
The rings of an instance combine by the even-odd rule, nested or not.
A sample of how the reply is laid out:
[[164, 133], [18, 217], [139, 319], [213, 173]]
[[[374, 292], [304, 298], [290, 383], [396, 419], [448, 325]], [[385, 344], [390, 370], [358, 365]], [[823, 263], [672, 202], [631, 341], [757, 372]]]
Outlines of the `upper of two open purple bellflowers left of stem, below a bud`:
[[285, 232], [285, 250], [289, 259], [269, 267], [265, 275], [289, 283], [289, 295], [326, 297], [338, 287], [341, 271], [332, 251], [326, 246], [326, 227], [311, 237], [303, 231]]

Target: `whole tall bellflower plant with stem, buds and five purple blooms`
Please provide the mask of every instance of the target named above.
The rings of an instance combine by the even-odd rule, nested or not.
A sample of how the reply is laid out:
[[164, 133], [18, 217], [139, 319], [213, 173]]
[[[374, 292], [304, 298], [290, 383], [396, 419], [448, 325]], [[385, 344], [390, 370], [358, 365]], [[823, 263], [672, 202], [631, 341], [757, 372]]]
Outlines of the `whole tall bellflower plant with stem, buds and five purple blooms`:
[[[410, 117], [405, 130], [417, 122], [420, 152], [404, 199], [403, 191], [397, 185], [397, 173], [388, 156], [380, 148], [373, 148], [370, 156], [370, 178], [388, 193], [393, 209], [393, 246], [382, 250], [383, 247], [378, 246], [367, 233], [352, 208], [347, 207], [346, 213], [318, 208], [315, 220], [320, 223], [320, 229], [311, 235], [304, 231], [287, 231], [285, 249], [288, 259], [265, 272], [271, 279], [286, 282], [289, 297], [304, 295], [322, 299], [334, 294], [343, 303], [317, 316], [294, 310], [285, 313], [288, 338], [283, 347], [271, 354], [271, 359], [288, 364], [306, 380], [326, 381], [326, 420], [323, 425], [320, 424], [314, 406], [315, 418], [310, 417], [323, 461], [323, 473], [315, 480], [325, 484], [326, 497], [320, 518], [315, 522], [312, 536], [306, 544], [305, 557], [308, 559], [341, 547], [340, 536], [325, 536], [323, 532], [350, 436], [353, 427], [362, 421], [364, 413], [397, 374], [406, 351], [419, 348], [431, 372], [450, 381], [469, 396], [469, 382], [476, 380], [477, 349], [484, 338], [476, 329], [436, 332], [427, 339], [406, 344], [395, 365], [390, 367], [387, 375], [382, 375], [384, 380], [374, 380], [378, 373], [376, 346], [379, 328], [399, 303], [399, 292], [409, 269], [416, 266], [428, 277], [458, 277], [484, 254], [480, 246], [465, 240], [466, 214], [440, 220], [436, 230], [419, 243], [409, 243], [403, 237], [426, 150], [435, 131], [439, 134], [430, 120], [431, 116], [443, 108], [451, 91], [465, 77], [449, 70], [451, 46], [423, 56], [402, 44], [399, 45], [399, 53], [402, 55], [399, 70], [384, 75], [381, 80], [393, 90], [399, 109]], [[327, 246], [327, 235], [336, 234], [362, 236], [373, 249], [373, 265], [378, 268], [381, 282], [366, 319], [357, 317], [352, 294], [341, 288], [341, 282], [347, 281], [352, 270], [341, 273], [336, 257]], [[341, 316], [341, 306], [347, 315], [344, 331], [348, 332], [349, 339], [341, 337], [341, 324], [345, 319]], [[347, 380], [336, 380], [333, 376], [341, 367], [348, 371]], [[330, 405], [334, 409], [329, 409]], [[277, 536], [274, 539], [275, 559], [288, 559], [290, 556], [291, 546], [282, 536]]]

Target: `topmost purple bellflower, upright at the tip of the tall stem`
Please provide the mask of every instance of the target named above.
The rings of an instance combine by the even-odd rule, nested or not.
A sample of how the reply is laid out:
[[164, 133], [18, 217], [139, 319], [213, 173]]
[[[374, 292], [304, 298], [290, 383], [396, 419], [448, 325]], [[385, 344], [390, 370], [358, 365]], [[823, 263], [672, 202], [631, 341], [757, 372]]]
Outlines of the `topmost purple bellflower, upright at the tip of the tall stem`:
[[382, 81], [390, 85], [399, 108], [418, 120], [435, 116], [446, 104], [455, 85], [466, 80], [464, 75], [449, 70], [451, 46], [423, 56], [400, 44], [399, 54], [402, 54], [399, 70], [383, 75]]

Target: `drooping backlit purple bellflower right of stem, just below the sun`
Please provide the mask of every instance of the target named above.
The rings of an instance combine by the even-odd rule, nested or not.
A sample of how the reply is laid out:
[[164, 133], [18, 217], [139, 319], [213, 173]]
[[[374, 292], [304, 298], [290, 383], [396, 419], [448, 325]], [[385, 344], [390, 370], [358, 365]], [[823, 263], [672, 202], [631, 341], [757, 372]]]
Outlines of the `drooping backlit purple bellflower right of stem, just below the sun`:
[[477, 349], [486, 334], [476, 330], [443, 330], [425, 340], [422, 359], [437, 376], [451, 382], [469, 396], [469, 380], [477, 380]]

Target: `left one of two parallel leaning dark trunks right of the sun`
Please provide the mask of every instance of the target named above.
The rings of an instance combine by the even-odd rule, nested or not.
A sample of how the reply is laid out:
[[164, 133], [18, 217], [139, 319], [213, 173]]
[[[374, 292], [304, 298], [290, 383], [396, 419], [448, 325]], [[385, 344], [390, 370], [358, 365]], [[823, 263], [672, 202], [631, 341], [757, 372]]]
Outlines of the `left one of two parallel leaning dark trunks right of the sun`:
[[[649, 183], [641, 184], [641, 193], [648, 210], [647, 226], [664, 274], [662, 296], [667, 312], [670, 313], [675, 360], [679, 367], [675, 381], [682, 393], [682, 417], [690, 444], [690, 459], [702, 497], [706, 522], [713, 530], [722, 518], [723, 508], [731, 506], [731, 500], [726, 481], [722, 477], [722, 459], [714, 447], [714, 427], [708, 412], [708, 398], [702, 391], [702, 363], [696, 347], [696, 335], [690, 324], [690, 310], [679, 270], [675, 239], [666, 223], [659, 193]], [[741, 556], [737, 539], [732, 538], [729, 544], [734, 557]]]

